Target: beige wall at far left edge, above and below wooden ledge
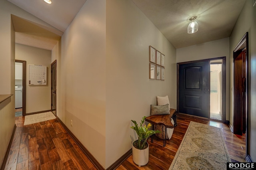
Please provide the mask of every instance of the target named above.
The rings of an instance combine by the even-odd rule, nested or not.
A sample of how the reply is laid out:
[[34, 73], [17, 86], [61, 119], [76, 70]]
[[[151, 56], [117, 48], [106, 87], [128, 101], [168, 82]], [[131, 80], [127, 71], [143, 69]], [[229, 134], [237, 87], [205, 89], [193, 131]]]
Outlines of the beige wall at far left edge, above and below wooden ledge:
[[[1, 2], [0, 2], [0, 16], [1, 16]], [[0, 22], [1, 17], [0, 17]], [[0, 34], [3, 30], [1, 28], [4, 28], [4, 26], [0, 27]], [[4, 155], [6, 153], [6, 150], [8, 148], [8, 144], [10, 142], [10, 138], [12, 136], [12, 132], [14, 130], [14, 121], [15, 121], [15, 91], [14, 91], [14, 85], [15, 85], [15, 32], [14, 27], [11, 22], [10, 24], [10, 39], [7, 40], [7, 42], [10, 42], [10, 51], [4, 51], [3, 53], [8, 54], [9, 57], [0, 55], [0, 79], [1, 79], [1, 85], [0, 85], [0, 94], [13, 94], [12, 97], [6, 99], [2, 103], [0, 103], [0, 166], [2, 166], [2, 162], [4, 159]], [[0, 39], [0, 44], [3, 43], [3, 39]], [[7, 46], [6, 46], [7, 47]], [[1, 49], [1, 47], [0, 47]], [[5, 61], [5, 59], [8, 59]], [[3, 65], [2, 65], [3, 64]], [[5, 65], [7, 64], [7, 65]], [[5, 70], [1, 71], [1, 69], [4, 68]], [[4, 77], [2, 74], [9, 73], [9, 77]], [[6, 80], [6, 78], [10, 79], [10, 82]], [[6, 81], [6, 82], [5, 82]], [[6, 88], [9, 86], [8, 88]], [[12, 88], [13, 87], [13, 88]]]

